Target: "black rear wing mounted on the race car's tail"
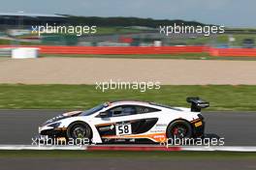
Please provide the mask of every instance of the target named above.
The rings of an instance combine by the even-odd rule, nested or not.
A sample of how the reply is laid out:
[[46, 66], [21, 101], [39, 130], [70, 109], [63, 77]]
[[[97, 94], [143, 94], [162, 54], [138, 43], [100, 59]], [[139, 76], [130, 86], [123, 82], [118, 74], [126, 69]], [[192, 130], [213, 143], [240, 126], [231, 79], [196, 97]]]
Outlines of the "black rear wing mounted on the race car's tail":
[[189, 97], [186, 100], [187, 102], [191, 103], [192, 112], [201, 112], [202, 108], [207, 108], [209, 106], [208, 101], [205, 101], [198, 97]]

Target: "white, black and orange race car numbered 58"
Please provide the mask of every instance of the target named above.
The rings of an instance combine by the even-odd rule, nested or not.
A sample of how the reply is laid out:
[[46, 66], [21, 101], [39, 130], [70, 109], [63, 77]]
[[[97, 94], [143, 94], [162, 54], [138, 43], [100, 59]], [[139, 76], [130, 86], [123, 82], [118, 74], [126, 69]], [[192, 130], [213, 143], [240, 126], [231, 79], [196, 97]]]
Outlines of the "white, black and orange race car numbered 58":
[[48, 120], [39, 128], [48, 138], [87, 138], [92, 143], [165, 142], [168, 138], [204, 135], [201, 109], [208, 102], [187, 98], [190, 108], [144, 101], [112, 101], [86, 111], [73, 111]]

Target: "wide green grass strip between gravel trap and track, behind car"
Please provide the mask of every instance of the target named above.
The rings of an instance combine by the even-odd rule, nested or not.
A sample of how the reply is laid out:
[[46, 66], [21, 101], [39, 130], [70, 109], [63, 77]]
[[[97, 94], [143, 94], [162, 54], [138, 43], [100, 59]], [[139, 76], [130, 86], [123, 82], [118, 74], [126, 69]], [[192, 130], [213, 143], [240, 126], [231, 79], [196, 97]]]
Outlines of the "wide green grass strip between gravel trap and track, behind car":
[[148, 100], [174, 106], [189, 106], [186, 97], [199, 96], [210, 102], [207, 110], [256, 111], [256, 86], [161, 86], [160, 90], [109, 90], [94, 85], [0, 85], [0, 108], [87, 109], [108, 100]]

